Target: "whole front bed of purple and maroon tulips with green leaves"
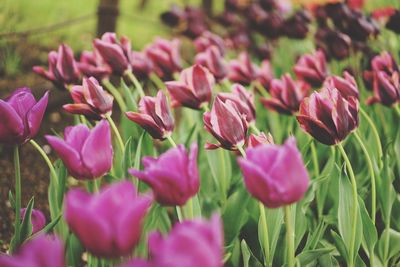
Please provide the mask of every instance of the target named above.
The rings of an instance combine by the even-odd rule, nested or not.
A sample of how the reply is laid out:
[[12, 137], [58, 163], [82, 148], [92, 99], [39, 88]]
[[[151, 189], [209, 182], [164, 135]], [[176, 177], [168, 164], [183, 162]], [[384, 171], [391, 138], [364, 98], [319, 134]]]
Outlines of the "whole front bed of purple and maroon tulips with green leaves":
[[[298, 58], [296, 78], [290, 70], [274, 78], [266, 59], [256, 64], [241, 52], [228, 60], [232, 51], [211, 32], [194, 47], [193, 65], [182, 59], [178, 39], [157, 38], [132, 51], [115, 33], [95, 39], [79, 61], [65, 44], [50, 52], [48, 69], [33, 70], [70, 92], [63, 109], [75, 122], [63, 136], [45, 136], [60, 159], [54, 163], [34, 141], [49, 93], [36, 101], [20, 88], [0, 100], [0, 142], [15, 147], [15, 233], [0, 266], [394, 264], [400, 232], [391, 228], [393, 165], [384, 162], [374, 110], [362, 108], [383, 105], [400, 118], [394, 57], [383, 51], [367, 69], [338, 76], [316, 50]], [[362, 92], [366, 101], [362, 84], [372, 90]], [[116, 110], [119, 125], [111, 117]], [[359, 113], [368, 135], [357, 131]], [[358, 179], [344, 149], [349, 135], [369, 180]], [[211, 136], [214, 142], [204, 142]], [[396, 150], [396, 142], [387, 146]], [[33, 199], [21, 204], [25, 143], [50, 169], [49, 223]]]

